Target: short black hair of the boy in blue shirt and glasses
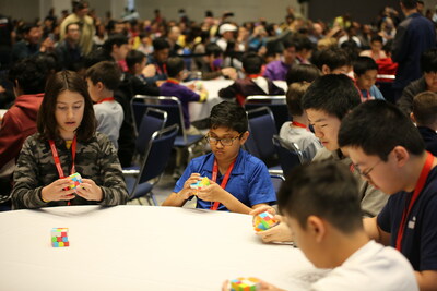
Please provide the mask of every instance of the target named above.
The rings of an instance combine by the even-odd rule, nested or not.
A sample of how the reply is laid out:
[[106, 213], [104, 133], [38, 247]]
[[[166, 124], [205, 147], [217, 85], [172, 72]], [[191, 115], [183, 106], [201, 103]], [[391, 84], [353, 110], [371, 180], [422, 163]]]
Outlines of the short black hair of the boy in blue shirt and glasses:
[[238, 133], [245, 133], [248, 130], [246, 111], [235, 102], [223, 101], [211, 109], [208, 119], [210, 129], [227, 128]]

